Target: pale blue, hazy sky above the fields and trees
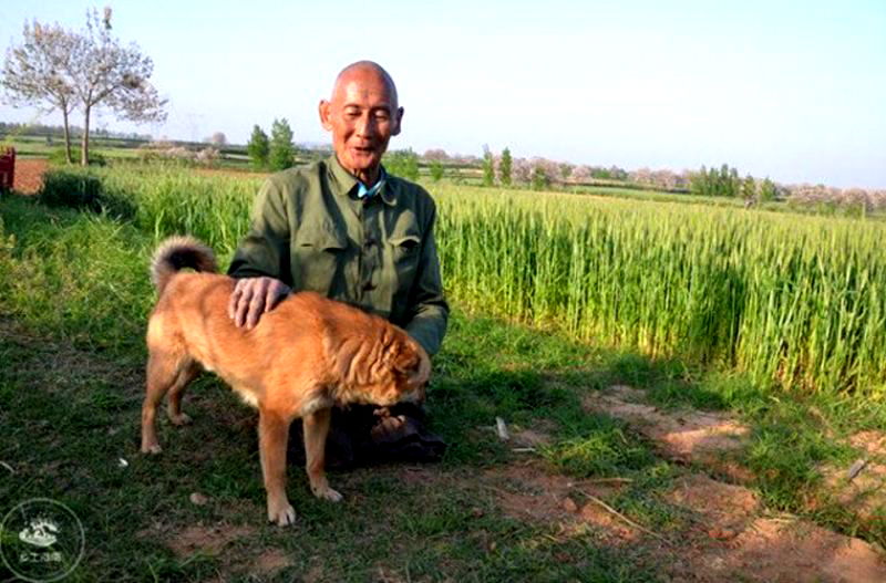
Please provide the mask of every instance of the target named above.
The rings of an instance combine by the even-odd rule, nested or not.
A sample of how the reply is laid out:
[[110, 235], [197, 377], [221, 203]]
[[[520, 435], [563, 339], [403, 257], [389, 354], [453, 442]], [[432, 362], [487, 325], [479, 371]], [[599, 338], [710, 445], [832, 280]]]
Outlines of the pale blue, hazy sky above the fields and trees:
[[[317, 105], [370, 59], [405, 108], [391, 148], [886, 188], [886, 0], [1, 3], [0, 55], [25, 20], [113, 9], [168, 118], [107, 129], [245, 143], [286, 117], [297, 143], [329, 143]], [[0, 121], [60, 116], [0, 103]]]

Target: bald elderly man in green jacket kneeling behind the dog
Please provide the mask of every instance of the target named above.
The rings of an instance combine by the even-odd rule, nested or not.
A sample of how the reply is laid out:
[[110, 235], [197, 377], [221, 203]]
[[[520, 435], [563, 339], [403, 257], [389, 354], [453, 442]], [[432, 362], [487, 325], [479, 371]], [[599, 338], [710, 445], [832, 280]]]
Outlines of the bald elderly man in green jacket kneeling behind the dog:
[[[229, 315], [253, 327], [287, 294], [311, 290], [388, 319], [433, 355], [449, 316], [434, 202], [381, 165], [403, 119], [394, 82], [377, 63], [348, 65], [319, 113], [334, 155], [275, 174], [262, 186], [228, 270], [239, 279]], [[426, 433], [422, 417], [406, 406], [337, 412], [330, 441], [339, 451], [332, 455], [344, 464], [439, 458], [445, 446]]]

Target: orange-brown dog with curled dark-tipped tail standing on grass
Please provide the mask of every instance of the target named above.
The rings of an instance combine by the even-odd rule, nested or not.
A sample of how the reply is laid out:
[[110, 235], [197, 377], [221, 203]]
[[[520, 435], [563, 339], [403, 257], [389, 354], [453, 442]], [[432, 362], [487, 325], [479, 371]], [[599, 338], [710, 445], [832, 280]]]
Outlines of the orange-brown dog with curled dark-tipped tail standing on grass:
[[395, 325], [311, 292], [290, 295], [253, 330], [239, 329], [227, 314], [234, 280], [215, 271], [212, 250], [192, 238], [168, 239], [154, 254], [159, 300], [147, 325], [142, 451], [161, 451], [154, 417], [167, 392], [173, 424], [190, 420], [182, 394], [203, 365], [258, 407], [268, 520], [290, 524], [296, 513], [286, 497], [286, 445], [292, 419], [303, 420], [311, 490], [339, 501], [323, 470], [331, 407], [421, 402], [430, 360]]

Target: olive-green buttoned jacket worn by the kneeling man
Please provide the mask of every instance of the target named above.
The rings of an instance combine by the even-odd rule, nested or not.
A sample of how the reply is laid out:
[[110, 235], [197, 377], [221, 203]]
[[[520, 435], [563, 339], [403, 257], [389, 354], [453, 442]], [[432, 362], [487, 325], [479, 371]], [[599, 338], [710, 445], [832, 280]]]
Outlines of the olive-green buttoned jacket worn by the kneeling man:
[[228, 269], [269, 275], [379, 314], [429, 354], [440, 350], [449, 305], [434, 243], [436, 207], [420, 186], [388, 175], [364, 202], [336, 156], [271, 175]]

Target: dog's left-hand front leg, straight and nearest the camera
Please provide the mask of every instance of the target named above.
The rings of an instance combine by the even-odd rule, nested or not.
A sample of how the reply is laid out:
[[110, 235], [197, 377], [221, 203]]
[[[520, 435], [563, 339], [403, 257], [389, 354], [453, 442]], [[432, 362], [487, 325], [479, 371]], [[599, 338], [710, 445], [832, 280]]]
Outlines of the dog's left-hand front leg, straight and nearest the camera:
[[261, 455], [261, 475], [268, 494], [268, 520], [280, 527], [296, 521], [296, 511], [286, 497], [286, 443], [289, 438], [289, 419], [259, 408], [258, 446]]

